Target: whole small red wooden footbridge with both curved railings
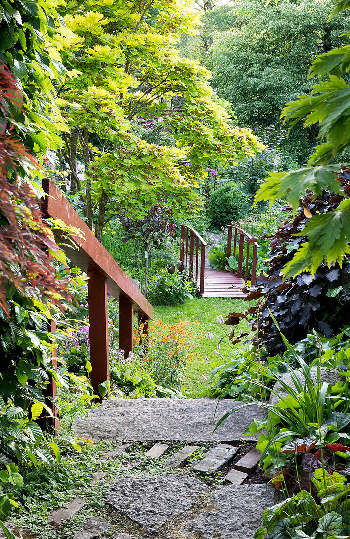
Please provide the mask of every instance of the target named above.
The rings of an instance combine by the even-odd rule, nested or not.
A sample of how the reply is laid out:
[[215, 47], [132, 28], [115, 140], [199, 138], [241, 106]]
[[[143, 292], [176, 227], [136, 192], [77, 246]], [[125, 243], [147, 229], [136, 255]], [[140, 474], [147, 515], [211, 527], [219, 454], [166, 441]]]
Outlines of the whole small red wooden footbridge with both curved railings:
[[[247, 254], [246, 259], [243, 260], [245, 244]], [[226, 257], [228, 258], [231, 254], [235, 257], [238, 251], [236, 274], [205, 269], [207, 246], [206, 241], [191, 226], [181, 226], [180, 261], [198, 286], [202, 298], [245, 298], [246, 294], [242, 288], [249, 277], [250, 246], [252, 246], [251, 284], [254, 284], [256, 280], [257, 251], [260, 247], [256, 238], [237, 226], [228, 227]]]

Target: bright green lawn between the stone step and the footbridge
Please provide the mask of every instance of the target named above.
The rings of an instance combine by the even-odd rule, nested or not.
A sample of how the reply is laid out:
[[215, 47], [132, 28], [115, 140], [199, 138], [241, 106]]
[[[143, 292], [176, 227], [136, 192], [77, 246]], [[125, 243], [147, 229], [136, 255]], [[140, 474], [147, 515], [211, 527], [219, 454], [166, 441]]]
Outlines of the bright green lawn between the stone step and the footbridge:
[[[188, 397], [200, 398], [208, 396], [211, 386], [203, 381], [202, 375], [207, 377], [211, 372], [211, 363], [219, 357], [214, 354], [214, 351], [218, 351], [218, 341], [230, 331], [230, 327], [218, 323], [216, 317], [222, 315], [225, 319], [228, 313], [233, 311], [243, 312], [251, 305], [254, 305], [254, 302], [248, 303], [244, 300], [220, 298], [200, 298], [186, 300], [184, 303], [180, 303], [180, 305], [158, 306], [154, 308], [155, 320], [162, 319], [164, 323], [171, 324], [184, 318], [193, 321], [198, 320], [203, 330], [203, 336], [195, 348], [195, 351], [198, 351], [198, 357], [194, 357], [192, 364], [188, 367], [181, 388], [187, 391]], [[242, 330], [247, 329], [248, 324], [241, 322], [239, 327]], [[206, 337], [208, 332], [214, 335], [211, 339]], [[230, 357], [232, 353], [227, 337], [223, 338], [220, 344], [220, 353], [224, 357]], [[209, 361], [205, 359], [206, 356]]]

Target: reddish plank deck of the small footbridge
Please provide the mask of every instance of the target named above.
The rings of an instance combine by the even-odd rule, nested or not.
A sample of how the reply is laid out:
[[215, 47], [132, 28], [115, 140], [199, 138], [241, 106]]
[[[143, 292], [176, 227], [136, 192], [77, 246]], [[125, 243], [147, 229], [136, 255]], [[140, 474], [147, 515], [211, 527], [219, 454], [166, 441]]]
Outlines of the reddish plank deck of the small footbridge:
[[[229, 288], [233, 286], [233, 288]], [[243, 279], [237, 275], [225, 271], [206, 270], [204, 272], [204, 293], [203, 298], [245, 298], [242, 292], [244, 286]]]

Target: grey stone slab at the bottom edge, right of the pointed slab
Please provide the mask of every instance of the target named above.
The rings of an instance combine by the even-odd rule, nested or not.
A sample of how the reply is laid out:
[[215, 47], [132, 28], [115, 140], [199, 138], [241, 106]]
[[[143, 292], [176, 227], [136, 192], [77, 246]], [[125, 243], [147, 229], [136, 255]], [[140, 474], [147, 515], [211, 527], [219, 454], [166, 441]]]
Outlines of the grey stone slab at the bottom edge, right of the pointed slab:
[[253, 539], [262, 526], [261, 515], [274, 505], [270, 485], [227, 485], [216, 488], [210, 505], [167, 539]]

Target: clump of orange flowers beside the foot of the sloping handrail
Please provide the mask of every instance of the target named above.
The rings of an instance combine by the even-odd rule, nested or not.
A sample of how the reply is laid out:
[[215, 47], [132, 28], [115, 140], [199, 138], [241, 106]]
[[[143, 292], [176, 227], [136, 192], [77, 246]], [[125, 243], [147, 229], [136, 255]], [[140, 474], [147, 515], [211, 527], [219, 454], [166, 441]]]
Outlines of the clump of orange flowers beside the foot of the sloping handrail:
[[[197, 326], [194, 327], [194, 326]], [[135, 331], [135, 347], [144, 344], [144, 324]], [[149, 330], [149, 348], [144, 350], [144, 361], [151, 368], [153, 379], [166, 388], [180, 390], [185, 370], [194, 356], [202, 329], [198, 320], [187, 319], [176, 324], [164, 324], [162, 320], [153, 322]]]

